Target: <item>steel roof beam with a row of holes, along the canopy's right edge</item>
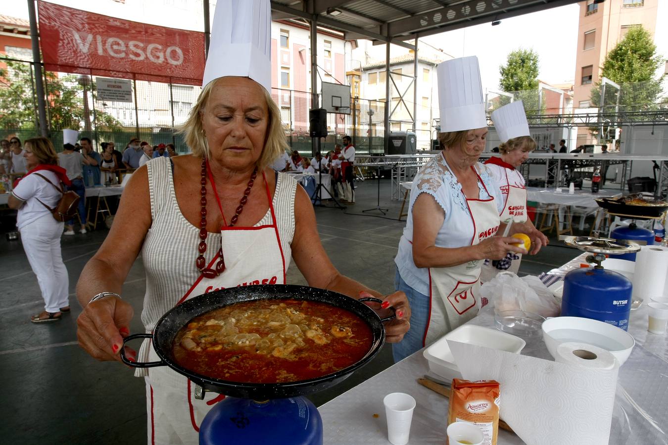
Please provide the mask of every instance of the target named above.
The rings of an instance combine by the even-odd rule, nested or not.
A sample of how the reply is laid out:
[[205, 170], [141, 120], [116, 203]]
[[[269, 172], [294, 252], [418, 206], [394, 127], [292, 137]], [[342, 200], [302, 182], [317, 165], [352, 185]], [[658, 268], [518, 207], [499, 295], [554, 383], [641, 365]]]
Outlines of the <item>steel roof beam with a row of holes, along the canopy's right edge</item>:
[[385, 25], [387, 27], [385, 34], [392, 37], [402, 36], [402, 39], [415, 35], [424, 37], [425, 35], [477, 25], [478, 23], [569, 5], [570, 3], [577, 3], [577, 1], [517, 0], [511, 5], [508, 0], [484, 0], [482, 2], [480, 0], [468, 0], [458, 3], [456, 6], [444, 7], [430, 13], [418, 14], [388, 23]]

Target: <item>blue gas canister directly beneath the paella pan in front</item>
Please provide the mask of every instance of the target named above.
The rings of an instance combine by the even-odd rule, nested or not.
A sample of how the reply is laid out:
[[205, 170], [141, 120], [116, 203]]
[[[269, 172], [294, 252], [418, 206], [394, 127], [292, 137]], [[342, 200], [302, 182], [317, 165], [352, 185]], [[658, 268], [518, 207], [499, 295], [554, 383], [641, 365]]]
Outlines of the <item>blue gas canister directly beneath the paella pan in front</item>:
[[200, 425], [200, 445], [322, 445], [323, 420], [305, 397], [265, 402], [226, 397]]

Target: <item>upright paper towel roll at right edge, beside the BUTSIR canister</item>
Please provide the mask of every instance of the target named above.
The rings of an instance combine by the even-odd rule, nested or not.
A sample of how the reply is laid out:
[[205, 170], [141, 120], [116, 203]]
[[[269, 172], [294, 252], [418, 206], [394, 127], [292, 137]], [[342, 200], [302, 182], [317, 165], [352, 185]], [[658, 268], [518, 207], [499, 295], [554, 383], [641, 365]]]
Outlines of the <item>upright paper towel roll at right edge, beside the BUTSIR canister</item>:
[[649, 300], [650, 297], [662, 296], [666, 274], [668, 274], [668, 248], [642, 246], [635, 256], [633, 299]]

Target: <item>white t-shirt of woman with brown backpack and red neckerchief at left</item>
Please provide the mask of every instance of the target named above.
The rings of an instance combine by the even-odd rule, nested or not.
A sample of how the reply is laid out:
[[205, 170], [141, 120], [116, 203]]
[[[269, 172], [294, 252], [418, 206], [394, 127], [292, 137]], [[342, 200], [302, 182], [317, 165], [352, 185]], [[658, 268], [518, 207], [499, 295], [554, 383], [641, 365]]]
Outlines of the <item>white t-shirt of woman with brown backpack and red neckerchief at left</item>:
[[[48, 177], [49, 181], [55, 185], [61, 186], [60, 180], [53, 171], [40, 170], [39, 174]], [[53, 219], [51, 212], [41, 205], [39, 201], [53, 208], [62, 196], [53, 185], [35, 175], [35, 173], [23, 177], [11, 193], [18, 199], [21, 199], [21, 201], [25, 201], [25, 204], [19, 209], [16, 216], [16, 226], [19, 228], [19, 231], [27, 224], [45, 215], [49, 215], [49, 218]], [[55, 222], [55, 219], [53, 221]]]

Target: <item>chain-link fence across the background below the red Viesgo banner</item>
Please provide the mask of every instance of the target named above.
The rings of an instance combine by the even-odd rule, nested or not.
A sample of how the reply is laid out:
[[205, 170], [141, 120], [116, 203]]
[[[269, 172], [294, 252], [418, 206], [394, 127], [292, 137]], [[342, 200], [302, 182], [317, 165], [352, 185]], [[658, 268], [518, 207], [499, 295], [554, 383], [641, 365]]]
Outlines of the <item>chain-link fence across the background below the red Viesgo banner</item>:
[[[25, 139], [39, 133], [33, 63], [0, 59], [0, 138], [16, 135]], [[132, 81], [132, 99], [111, 101], [98, 97], [98, 77], [46, 72], [47, 121], [55, 147], [62, 147], [62, 129], [79, 130], [94, 146], [114, 141], [123, 149], [132, 137], [152, 145], [174, 143], [176, 151], [186, 153], [178, 125], [188, 118], [202, 90], [199, 86], [149, 81]], [[306, 91], [272, 89], [281, 109], [281, 120], [293, 149], [311, 153], [309, 109], [312, 95]], [[334, 149], [343, 135], [350, 135], [361, 152], [382, 153], [385, 104], [351, 99], [349, 114], [328, 114], [329, 135], [321, 150]]]

